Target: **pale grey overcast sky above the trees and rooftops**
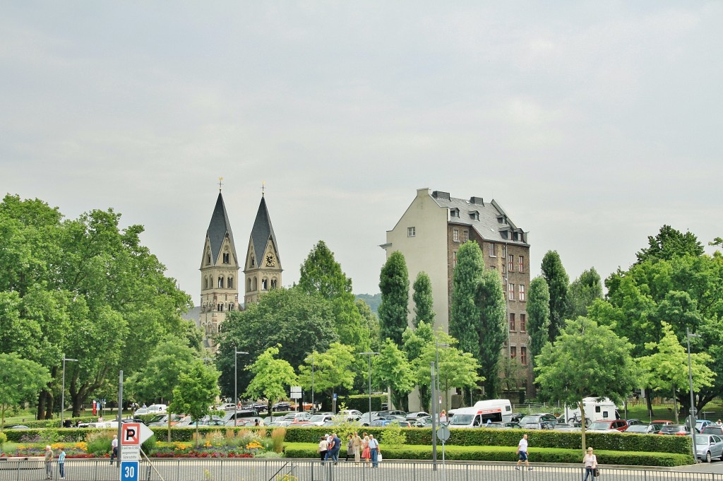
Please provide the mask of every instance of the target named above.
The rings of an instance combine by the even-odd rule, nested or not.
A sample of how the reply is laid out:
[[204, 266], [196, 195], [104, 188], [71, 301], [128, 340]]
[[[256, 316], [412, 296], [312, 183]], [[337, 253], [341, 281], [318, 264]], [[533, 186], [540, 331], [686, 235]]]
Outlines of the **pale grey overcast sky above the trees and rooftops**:
[[[324, 239], [379, 291], [416, 189], [495, 198], [533, 276], [723, 235], [720, 1], [3, 1], [0, 191], [114, 208], [200, 299], [223, 176], [243, 257], [266, 182], [283, 285]], [[711, 252], [710, 248], [708, 248]]]

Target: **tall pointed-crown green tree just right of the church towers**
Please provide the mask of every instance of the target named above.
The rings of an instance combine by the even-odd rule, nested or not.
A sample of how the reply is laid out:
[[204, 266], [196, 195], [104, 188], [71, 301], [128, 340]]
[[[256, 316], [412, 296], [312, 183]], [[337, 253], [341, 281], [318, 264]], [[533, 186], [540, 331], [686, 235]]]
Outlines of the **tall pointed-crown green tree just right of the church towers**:
[[351, 278], [341, 270], [341, 264], [336, 262], [324, 241], [317, 242], [301, 264], [298, 286], [301, 291], [318, 294], [331, 303], [334, 325], [343, 344], [354, 346], [358, 351], [369, 349], [369, 331], [356, 308]]

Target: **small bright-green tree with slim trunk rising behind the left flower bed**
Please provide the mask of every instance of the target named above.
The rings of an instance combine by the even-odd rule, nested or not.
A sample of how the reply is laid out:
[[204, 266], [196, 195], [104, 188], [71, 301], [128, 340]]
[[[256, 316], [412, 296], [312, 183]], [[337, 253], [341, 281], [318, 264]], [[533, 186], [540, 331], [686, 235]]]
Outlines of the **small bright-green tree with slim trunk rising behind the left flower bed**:
[[174, 388], [174, 399], [168, 404], [170, 412], [189, 414], [196, 424], [196, 448], [198, 448], [198, 421], [212, 412], [210, 406], [221, 393], [218, 389], [218, 370], [206, 365], [200, 359], [193, 362], [187, 373], [179, 375], [178, 385]]

